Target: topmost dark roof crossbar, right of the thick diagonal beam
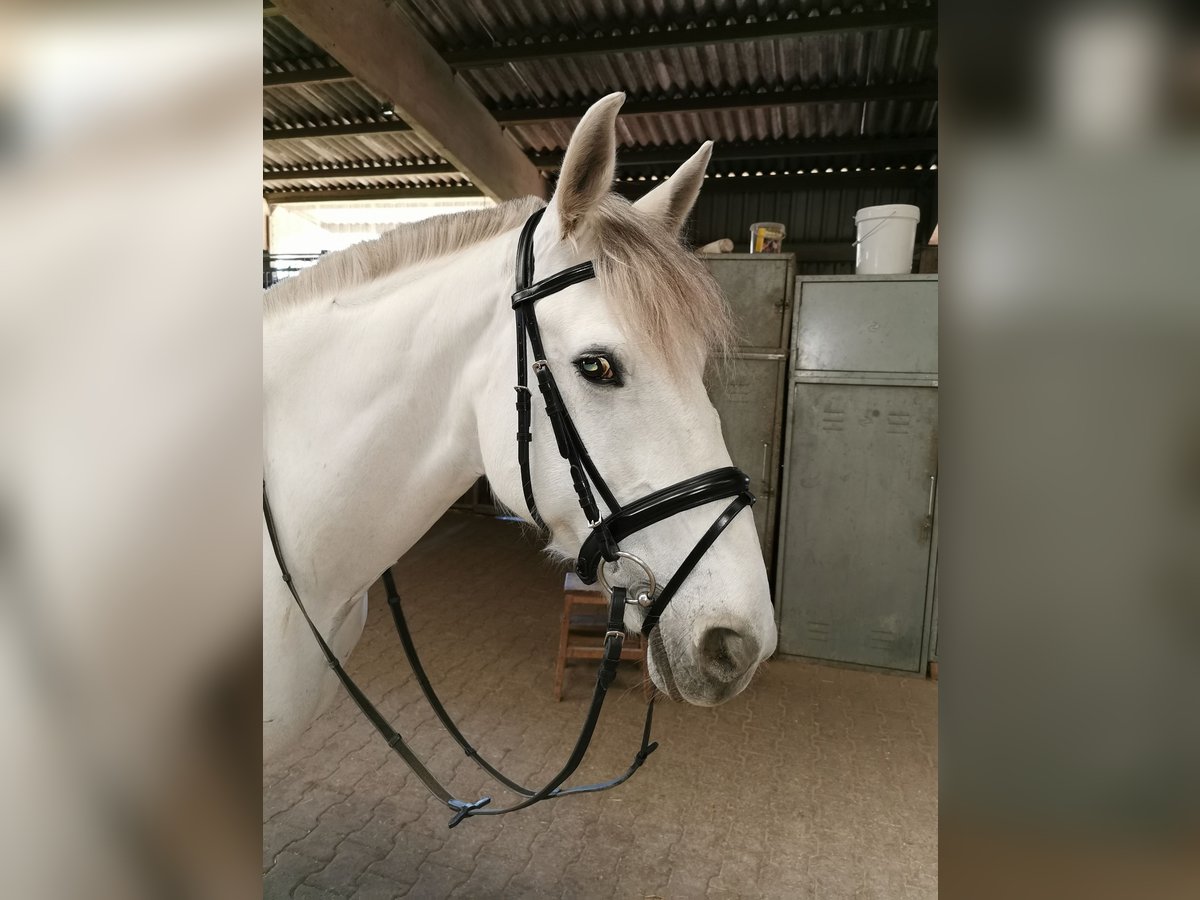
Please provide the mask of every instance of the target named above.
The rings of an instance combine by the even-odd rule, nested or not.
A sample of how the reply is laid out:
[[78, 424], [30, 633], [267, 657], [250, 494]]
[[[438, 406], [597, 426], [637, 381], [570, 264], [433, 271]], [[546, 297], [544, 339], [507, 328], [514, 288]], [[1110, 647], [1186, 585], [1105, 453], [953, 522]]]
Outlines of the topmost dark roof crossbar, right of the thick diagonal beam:
[[805, 35], [833, 35], [893, 28], [936, 28], [937, 5], [910, 6], [886, 12], [859, 12], [840, 16], [798, 16], [791, 19], [767, 19], [698, 28], [629, 31], [602, 37], [566, 40], [532, 38], [520, 43], [450, 50], [443, 58], [455, 68], [484, 68], [509, 62], [593, 56], [640, 50], [664, 50], [680, 47], [708, 47], [737, 41], [763, 41]]

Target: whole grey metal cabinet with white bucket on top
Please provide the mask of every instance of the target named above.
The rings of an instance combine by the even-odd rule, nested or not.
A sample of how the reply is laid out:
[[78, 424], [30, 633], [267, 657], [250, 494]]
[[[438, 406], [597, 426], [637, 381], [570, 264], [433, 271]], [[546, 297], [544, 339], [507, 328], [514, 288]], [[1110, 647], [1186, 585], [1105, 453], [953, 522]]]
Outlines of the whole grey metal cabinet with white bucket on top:
[[800, 278], [781, 653], [923, 672], [936, 576], [937, 281]]

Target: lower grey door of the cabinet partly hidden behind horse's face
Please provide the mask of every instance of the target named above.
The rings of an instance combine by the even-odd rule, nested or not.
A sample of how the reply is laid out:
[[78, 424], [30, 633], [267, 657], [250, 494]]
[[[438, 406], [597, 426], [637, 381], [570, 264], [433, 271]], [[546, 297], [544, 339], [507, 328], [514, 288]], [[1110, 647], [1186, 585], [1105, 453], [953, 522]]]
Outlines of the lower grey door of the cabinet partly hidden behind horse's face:
[[709, 383], [708, 396], [721, 416], [721, 433], [733, 464], [750, 476], [755, 528], [768, 571], [774, 563], [779, 480], [780, 392], [787, 360], [731, 359]]

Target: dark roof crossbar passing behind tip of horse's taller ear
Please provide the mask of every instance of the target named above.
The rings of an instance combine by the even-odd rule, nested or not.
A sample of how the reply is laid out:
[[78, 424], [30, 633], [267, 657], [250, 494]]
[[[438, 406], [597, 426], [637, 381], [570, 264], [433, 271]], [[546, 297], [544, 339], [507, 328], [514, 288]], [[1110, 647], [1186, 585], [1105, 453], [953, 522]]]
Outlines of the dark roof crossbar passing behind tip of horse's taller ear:
[[[620, 108], [624, 115], [662, 115], [671, 113], [704, 113], [724, 109], [755, 109], [758, 107], [790, 107], [806, 103], [869, 103], [874, 100], [937, 100], [937, 82], [916, 84], [875, 84], [842, 88], [794, 88], [782, 91], [743, 91], [700, 97], [664, 97], [629, 100]], [[557, 107], [497, 109], [492, 114], [502, 125], [538, 125], [559, 119], [578, 119], [588, 103], [565, 103]]]

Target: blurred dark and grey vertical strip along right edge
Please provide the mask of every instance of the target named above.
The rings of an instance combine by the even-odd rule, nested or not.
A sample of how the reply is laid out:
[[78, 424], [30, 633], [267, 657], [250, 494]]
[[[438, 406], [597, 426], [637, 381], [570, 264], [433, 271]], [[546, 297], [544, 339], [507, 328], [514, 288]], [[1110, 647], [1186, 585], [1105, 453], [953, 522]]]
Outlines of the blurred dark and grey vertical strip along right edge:
[[942, 895], [1200, 896], [1200, 34], [943, 24]]

